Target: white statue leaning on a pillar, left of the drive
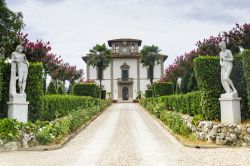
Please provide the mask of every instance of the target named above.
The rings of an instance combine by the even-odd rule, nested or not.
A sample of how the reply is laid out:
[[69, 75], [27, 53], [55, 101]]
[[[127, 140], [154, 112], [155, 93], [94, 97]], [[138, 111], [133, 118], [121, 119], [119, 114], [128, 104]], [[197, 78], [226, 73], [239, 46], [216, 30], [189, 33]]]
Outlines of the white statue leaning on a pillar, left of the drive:
[[16, 73], [18, 74], [19, 94], [25, 95], [26, 80], [28, 76], [29, 62], [25, 54], [22, 53], [23, 47], [18, 45], [16, 50], [11, 54], [11, 78], [9, 96], [14, 97], [16, 92]]

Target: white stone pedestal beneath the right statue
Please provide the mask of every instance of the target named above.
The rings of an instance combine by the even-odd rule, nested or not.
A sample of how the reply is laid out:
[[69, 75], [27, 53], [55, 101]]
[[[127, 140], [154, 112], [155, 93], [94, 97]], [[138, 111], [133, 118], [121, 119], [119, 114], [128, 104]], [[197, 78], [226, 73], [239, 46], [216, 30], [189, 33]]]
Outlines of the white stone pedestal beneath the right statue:
[[239, 124], [241, 123], [240, 100], [241, 98], [235, 94], [221, 95], [221, 123], [224, 124]]

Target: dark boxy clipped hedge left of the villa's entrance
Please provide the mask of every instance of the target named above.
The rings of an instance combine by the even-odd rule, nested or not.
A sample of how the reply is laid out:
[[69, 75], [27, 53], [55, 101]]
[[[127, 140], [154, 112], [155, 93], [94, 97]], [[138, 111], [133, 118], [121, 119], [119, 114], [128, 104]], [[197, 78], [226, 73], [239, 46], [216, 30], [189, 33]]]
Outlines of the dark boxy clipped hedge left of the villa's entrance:
[[78, 83], [73, 86], [73, 94], [76, 96], [97, 97], [97, 86], [95, 83]]

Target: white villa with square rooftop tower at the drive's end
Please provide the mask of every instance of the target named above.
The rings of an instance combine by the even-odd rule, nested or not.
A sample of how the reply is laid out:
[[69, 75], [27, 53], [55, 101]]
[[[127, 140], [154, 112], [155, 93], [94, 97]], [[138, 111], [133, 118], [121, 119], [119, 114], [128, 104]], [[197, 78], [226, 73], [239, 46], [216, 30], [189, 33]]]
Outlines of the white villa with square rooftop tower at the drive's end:
[[[139, 91], [144, 92], [150, 84], [148, 69], [143, 67], [140, 60], [139, 47], [142, 41], [138, 39], [113, 39], [108, 41], [111, 47], [111, 61], [103, 73], [102, 85], [107, 92], [111, 92], [113, 100], [136, 99]], [[82, 57], [87, 63], [88, 56]], [[154, 81], [163, 75], [163, 63], [167, 59], [162, 55], [161, 63], [154, 67]], [[87, 79], [97, 83], [97, 69], [87, 65]]]

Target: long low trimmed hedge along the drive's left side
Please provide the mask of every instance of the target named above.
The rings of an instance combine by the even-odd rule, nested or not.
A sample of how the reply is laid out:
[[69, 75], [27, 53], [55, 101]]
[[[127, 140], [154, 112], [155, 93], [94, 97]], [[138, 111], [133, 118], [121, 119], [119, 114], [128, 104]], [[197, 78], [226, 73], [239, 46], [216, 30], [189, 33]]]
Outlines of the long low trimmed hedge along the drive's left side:
[[54, 120], [67, 116], [78, 107], [93, 107], [100, 105], [101, 102], [100, 99], [87, 96], [46, 95], [43, 97], [43, 109], [39, 113], [38, 119]]

